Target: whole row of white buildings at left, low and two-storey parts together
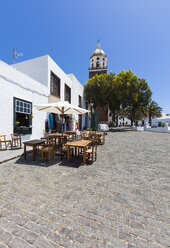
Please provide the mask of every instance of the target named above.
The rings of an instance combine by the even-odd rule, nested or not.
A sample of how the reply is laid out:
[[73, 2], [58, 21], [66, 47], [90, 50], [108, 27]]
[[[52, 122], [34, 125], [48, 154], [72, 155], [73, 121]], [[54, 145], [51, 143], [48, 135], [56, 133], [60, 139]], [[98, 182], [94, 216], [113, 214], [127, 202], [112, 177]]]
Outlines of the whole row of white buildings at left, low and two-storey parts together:
[[[49, 118], [46, 112], [39, 112], [34, 105], [61, 100], [86, 107], [84, 87], [73, 74], [64, 71], [48, 56], [31, 59], [12, 66], [0, 61], [0, 134], [17, 132], [22, 140], [40, 138]], [[74, 117], [74, 118], [72, 118]], [[79, 129], [89, 126], [89, 116], [66, 116], [67, 128], [71, 123]], [[59, 115], [53, 114], [54, 129], [58, 129]]]

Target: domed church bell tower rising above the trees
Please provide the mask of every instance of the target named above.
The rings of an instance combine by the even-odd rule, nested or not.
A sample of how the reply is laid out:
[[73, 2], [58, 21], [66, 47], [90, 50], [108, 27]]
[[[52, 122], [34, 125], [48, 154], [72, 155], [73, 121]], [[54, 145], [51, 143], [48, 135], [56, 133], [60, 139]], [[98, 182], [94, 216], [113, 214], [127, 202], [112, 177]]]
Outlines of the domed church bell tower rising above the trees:
[[107, 56], [98, 42], [97, 48], [90, 57], [89, 78], [105, 73], [107, 73]]

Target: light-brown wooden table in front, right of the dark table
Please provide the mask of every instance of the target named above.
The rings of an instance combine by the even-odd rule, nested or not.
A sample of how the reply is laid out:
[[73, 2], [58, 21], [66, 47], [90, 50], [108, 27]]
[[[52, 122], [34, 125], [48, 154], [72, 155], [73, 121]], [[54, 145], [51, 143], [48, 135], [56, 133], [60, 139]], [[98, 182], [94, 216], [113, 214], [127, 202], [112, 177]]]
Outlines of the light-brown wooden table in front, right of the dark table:
[[67, 150], [67, 161], [70, 162], [70, 147], [75, 147], [75, 149], [83, 148], [83, 164], [86, 164], [86, 149], [91, 144], [90, 140], [76, 140], [67, 142], [66, 146], [68, 147]]

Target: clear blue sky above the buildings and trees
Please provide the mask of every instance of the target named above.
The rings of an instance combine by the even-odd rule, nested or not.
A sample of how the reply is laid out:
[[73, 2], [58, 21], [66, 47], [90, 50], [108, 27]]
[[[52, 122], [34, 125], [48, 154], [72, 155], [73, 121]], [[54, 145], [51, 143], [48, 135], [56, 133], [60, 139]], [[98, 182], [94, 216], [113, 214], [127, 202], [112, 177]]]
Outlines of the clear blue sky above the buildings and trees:
[[100, 39], [108, 71], [132, 69], [170, 113], [170, 0], [1, 0], [0, 59], [49, 54], [84, 84]]

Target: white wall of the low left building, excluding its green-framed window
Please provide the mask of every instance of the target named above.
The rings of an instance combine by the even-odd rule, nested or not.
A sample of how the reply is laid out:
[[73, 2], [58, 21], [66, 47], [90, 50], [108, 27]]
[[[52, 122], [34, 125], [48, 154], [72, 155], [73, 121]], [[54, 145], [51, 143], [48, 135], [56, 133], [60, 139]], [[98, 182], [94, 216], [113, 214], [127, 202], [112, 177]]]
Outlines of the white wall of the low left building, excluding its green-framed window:
[[34, 105], [47, 103], [47, 93], [45, 86], [0, 61], [0, 134], [5, 134], [10, 139], [14, 133], [14, 99], [18, 98], [32, 104], [31, 116], [28, 115], [32, 122], [32, 134], [24, 135], [22, 140], [40, 138], [47, 114], [39, 112]]

